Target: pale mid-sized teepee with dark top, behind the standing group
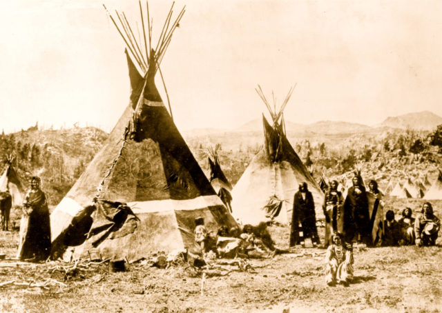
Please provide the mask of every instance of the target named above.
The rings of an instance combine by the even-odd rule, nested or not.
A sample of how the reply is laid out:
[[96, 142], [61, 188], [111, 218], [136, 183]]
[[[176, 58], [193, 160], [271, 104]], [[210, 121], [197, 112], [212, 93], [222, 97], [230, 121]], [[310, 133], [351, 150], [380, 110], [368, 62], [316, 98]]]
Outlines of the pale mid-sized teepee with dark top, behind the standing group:
[[307, 183], [314, 197], [316, 218], [323, 217], [323, 192], [287, 140], [282, 112], [294, 88], [276, 110], [272, 109], [260, 86], [256, 90], [269, 109], [272, 125], [262, 116], [264, 148], [261, 148], [232, 190], [233, 216], [242, 223], [291, 221], [294, 194]]

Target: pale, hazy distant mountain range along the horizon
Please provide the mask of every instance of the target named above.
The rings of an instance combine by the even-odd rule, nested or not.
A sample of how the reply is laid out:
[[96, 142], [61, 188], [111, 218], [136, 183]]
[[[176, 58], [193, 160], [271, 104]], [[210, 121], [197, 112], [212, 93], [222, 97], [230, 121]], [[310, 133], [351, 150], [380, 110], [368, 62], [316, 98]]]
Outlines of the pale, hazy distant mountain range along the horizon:
[[[363, 132], [374, 132], [385, 130], [386, 128], [414, 129], [414, 130], [434, 130], [437, 125], [442, 124], [442, 117], [429, 112], [414, 112], [399, 115], [397, 117], [387, 117], [382, 123], [369, 126], [358, 123], [344, 121], [318, 121], [311, 124], [285, 122], [285, 128], [289, 133], [309, 133], [309, 134], [357, 134]], [[221, 132], [262, 132], [262, 118], [253, 119], [234, 130], [221, 130], [215, 128], [194, 129], [185, 131], [185, 134], [215, 134]]]

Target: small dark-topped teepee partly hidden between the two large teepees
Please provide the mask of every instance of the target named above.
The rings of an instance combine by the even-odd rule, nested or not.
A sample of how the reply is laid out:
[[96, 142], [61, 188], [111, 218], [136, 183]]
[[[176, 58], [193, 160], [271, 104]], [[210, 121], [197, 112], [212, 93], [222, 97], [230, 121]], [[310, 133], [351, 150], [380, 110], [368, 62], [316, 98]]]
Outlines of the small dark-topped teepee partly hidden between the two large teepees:
[[218, 143], [215, 148], [209, 149], [209, 166], [210, 166], [210, 183], [215, 190], [216, 194], [220, 197], [224, 205], [232, 212], [232, 185], [227, 179], [224, 172], [222, 172], [218, 152], [221, 145]]

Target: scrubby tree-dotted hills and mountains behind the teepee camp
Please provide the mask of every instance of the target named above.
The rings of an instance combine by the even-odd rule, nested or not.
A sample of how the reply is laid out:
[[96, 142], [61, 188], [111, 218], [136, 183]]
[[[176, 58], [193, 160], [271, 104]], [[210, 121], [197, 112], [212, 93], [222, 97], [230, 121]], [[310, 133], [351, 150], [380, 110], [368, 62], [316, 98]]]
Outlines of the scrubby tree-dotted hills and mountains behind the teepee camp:
[[[425, 173], [434, 178], [442, 161], [442, 148], [432, 145], [430, 132], [419, 127], [439, 120], [442, 124], [442, 118], [430, 112], [396, 118], [389, 118], [386, 121], [390, 122], [385, 121], [378, 127], [336, 121], [309, 125], [287, 121], [287, 138], [302, 161], [313, 165], [316, 176], [340, 175], [352, 170], [356, 162], [362, 162], [368, 176], [383, 180], [401, 179], [405, 172], [416, 177]], [[405, 124], [392, 121], [414, 123], [401, 128], [394, 126]], [[220, 163], [228, 179], [235, 184], [262, 147], [262, 119], [250, 121], [236, 130], [195, 129], [183, 135], [207, 175], [209, 148], [220, 143]], [[62, 130], [32, 127], [0, 135], [0, 160], [14, 154], [15, 167], [26, 185], [30, 176], [41, 176], [53, 206], [84, 172], [107, 137], [106, 132], [92, 127]], [[3, 163], [0, 163], [0, 170], [3, 170]]]

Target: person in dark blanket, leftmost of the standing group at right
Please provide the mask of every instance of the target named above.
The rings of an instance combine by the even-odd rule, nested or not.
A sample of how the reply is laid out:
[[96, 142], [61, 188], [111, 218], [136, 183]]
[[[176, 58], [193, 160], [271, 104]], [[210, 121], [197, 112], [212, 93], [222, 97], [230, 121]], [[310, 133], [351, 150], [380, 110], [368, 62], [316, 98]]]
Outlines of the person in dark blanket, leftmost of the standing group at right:
[[300, 243], [299, 223], [301, 224], [304, 239], [311, 237], [313, 245], [320, 244], [318, 230], [316, 229], [316, 213], [313, 195], [307, 188], [307, 183], [299, 185], [299, 190], [294, 196], [293, 212], [291, 215], [290, 247]]

